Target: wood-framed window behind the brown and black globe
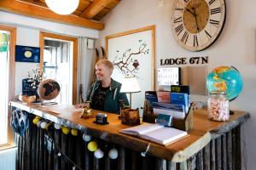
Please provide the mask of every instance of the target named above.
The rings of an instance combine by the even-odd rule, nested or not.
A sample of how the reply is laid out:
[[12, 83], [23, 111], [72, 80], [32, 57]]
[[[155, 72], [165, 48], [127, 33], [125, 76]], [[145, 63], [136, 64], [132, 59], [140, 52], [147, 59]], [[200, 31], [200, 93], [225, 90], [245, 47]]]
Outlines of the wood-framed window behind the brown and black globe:
[[42, 32], [40, 37], [41, 65], [44, 77], [59, 82], [61, 93], [53, 101], [75, 104], [77, 96], [77, 38]]

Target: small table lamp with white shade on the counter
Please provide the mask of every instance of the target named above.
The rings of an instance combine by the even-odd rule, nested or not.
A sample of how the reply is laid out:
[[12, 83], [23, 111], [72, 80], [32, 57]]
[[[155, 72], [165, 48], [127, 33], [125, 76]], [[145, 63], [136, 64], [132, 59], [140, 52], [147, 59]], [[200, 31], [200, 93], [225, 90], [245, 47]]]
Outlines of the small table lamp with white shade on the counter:
[[125, 77], [122, 82], [120, 89], [121, 93], [130, 94], [130, 105], [131, 105], [131, 94], [138, 93], [141, 91], [136, 77]]

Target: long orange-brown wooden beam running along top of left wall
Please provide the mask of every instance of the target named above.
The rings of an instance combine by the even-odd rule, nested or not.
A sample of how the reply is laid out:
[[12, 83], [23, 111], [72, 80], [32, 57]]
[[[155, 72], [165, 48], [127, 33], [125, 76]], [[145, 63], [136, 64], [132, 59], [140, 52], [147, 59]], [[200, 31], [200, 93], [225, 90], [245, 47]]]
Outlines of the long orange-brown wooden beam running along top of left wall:
[[23, 14], [26, 16], [39, 18], [43, 20], [51, 20], [63, 24], [81, 26], [95, 30], [103, 30], [104, 24], [93, 20], [83, 19], [72, 14], [61, 15], [55, 14], [49, 8], [43, 8], [31, 3], [24, 3], [15, 0], [1, 0], [0, 9], [15, 14]]

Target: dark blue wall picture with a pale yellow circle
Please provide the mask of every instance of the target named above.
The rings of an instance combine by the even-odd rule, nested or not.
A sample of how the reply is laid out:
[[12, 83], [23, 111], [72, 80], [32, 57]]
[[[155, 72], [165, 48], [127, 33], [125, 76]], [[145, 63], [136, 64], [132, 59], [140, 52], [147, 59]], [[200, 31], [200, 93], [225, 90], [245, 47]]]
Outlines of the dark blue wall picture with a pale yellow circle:
[[29, 46], [15, 46], [15, 61], [17, 62], [40, 62], [40, 48]]

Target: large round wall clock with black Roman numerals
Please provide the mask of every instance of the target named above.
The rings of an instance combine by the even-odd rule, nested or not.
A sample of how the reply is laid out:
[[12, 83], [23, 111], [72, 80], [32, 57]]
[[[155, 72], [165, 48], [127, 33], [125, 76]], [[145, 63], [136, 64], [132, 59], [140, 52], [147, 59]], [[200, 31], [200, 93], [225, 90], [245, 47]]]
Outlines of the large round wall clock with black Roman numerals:
[[183, 48], [200, 51], [218, 38], [224, 20], [224, 0], [176, 0], [172, 33]]

